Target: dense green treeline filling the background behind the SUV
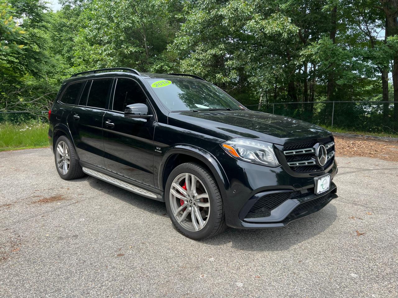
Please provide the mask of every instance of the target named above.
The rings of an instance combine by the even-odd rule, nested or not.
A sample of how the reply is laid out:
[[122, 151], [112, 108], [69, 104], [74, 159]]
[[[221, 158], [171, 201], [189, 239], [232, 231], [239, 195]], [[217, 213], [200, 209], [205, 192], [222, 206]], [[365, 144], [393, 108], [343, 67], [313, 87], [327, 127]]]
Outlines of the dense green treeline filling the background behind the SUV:
[[[0, 1], [2, 108], [37, 112], [71, 74], [120, 66], [197, 74], [263, 110], [293, 102], [289, 114], [310, 121], [332, 112], [313, 102], [390, 96], [398, 117], [397, 0], [61, 0], [58, 12]], [[393, 127], [388, 103], [382, 116]]]

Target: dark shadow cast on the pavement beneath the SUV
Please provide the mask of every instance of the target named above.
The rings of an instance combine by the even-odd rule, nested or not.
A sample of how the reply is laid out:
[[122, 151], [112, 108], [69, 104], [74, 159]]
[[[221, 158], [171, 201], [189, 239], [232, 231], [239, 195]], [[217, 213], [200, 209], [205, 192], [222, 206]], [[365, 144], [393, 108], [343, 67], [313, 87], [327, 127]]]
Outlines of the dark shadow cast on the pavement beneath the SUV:
[[[154, 216], [168, 217], [166, 205], [163, 202], [133, 194], [93, 177], [89, 177], [88, 182], [90, 187], [114, 197], [115, 199], [119, 199], [143, 211], [152, 213]], [[321, 234], [334, 223], [336, 218], [337, 208], [333, 203], [329, 203], [317, 213], [293, 221], [285, 228], [261, 230], [227, 228], [226, 231], [219, 236], [201, 240], [200, 243], [213, 246], [228, 244], [231, 245], [232, 248], [245, 251], [283, 251]], [[174, 229], [171, 221], [170, 229]], [[184, 237], [177, 231], [175, 231], [175, 233], [176, 237]]]

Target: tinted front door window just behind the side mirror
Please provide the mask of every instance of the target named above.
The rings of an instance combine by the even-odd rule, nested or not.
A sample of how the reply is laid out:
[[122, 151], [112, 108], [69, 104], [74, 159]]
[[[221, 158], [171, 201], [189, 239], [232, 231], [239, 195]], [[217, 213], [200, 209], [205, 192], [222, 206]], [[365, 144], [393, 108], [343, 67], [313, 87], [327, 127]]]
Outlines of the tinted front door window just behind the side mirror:
[[112, 110], [124, 112], [126, 106], [134, 103], [146, 103], [140, 85], [132, 79], [117, 79]]

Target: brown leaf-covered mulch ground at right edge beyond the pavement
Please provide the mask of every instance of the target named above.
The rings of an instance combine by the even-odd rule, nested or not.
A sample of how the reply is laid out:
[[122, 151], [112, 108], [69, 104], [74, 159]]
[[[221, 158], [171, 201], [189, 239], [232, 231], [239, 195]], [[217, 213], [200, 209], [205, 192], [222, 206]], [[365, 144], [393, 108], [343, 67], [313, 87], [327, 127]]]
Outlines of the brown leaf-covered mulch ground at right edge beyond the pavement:
[[359, 156], [398, 162], [398, 142], [365, 138], [334, 137], [336, 156]]

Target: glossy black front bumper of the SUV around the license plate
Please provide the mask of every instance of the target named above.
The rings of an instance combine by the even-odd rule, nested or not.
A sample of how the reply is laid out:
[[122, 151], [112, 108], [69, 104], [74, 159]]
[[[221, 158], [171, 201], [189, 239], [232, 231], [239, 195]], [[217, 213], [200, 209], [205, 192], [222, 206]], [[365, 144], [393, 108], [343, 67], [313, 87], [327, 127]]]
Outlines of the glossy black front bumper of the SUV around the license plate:
[[[299, 177], [292, 176], [282, 166], [269, 168], [238, 160], [231, 162], [230, 157], [225, 160], [220, 158], [219, 161], [229, 181], [228, 188], [222, 190], [226, 224], [234, 228], [283, 227], [319, 211], [338, 197], [334, 183], [331, 183], [328, 192], [314, 195], [314, 178], [330, 174], [332, 182], [338, 172], [336, 161], [324, 172]], [[279, 204], [274, 204], [272, 209], [265, 208], [266, 214], [253, 216], [252, 207], [269, 194], [289, 195]]]

